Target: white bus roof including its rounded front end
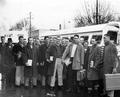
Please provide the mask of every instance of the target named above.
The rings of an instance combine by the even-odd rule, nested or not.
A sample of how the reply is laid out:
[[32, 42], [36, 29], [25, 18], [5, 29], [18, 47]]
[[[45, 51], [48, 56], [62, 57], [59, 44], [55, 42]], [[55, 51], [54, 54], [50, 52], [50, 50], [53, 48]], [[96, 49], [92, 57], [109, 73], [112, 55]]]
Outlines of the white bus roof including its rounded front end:
[[44, 33], [40, 33], [41, 37], [44, 36], [58, 36], [58, 35], [73, 35], [73, 34], [84, 34], [84, 33], [93, 33], [93, 32], [102, 32], [104, 29], [118, 29], [114, 26], [114, 23], [111, 25], [111, 23], [106, 24], [99, 24], [99, 25], [91, 25], [91, 26], [85, 26], [85, 27], [78, 27], [78, 28], [71, 28], [71, 29], [63, 29], [58, 31], [46, 31]]

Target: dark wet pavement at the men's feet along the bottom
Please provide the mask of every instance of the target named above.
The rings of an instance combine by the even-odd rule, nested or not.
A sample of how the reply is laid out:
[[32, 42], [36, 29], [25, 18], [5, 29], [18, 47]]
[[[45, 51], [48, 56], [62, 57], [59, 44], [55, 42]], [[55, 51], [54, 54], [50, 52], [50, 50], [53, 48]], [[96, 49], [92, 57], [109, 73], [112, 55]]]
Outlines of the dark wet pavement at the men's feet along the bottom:
[[[41, 87], [37, 88], [16, 88], [6, 87], [0, 90], [0, 97], [50, 97], [46, 95], [47, 90]], [[95, 94], [95, 92], [94, 92]], [[56, 90], [56, 97], [93, 97], [87, 94], [87, 91], [83, 88], [80, 89], [80, 93], [66, 93], [63, 90]], [[95, 95], [94, 97], [98, 97]], [[120, 92], [115, 93], [115, 97], [120, 97]]]

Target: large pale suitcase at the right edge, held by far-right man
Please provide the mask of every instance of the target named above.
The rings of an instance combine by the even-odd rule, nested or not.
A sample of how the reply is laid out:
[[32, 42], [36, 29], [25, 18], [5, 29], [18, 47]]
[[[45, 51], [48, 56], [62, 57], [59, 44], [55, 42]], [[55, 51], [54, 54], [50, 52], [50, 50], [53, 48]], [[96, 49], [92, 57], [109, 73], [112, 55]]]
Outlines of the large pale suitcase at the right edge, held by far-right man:
[[120, 90], [120, 73], [105, 74], [105, 89]]

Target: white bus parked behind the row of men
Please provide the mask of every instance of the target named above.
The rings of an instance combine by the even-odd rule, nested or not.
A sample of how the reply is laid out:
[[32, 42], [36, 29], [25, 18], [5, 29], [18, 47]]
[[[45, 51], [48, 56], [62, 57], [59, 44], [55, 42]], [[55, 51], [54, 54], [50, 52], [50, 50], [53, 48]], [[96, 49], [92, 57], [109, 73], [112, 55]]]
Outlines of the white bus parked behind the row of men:
[[78, 34], [80, 37], [84, 38], [85, 41], [88, 41], [89, 45], [91, 45], [91, 39], [96, 38], [100, 46], [104, 45], [104, 35], [109, 34], [110, 40], [117, 44], [120, 39], [120, 22], [110, 22], [58, 31], [46, 31], [40, 33], [40, 38], [43, 38], [44, 36], [70, 38], [75, 34]]

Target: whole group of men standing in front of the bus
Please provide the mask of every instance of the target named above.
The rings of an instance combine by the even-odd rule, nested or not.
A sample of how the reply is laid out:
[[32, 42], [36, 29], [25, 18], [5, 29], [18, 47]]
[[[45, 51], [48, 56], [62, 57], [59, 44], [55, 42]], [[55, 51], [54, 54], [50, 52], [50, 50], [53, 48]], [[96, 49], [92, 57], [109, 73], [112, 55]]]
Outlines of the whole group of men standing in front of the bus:
[[34, 41], [32, 37], [25, 43], [23, 36], [14, 45], [10, 38], [7, 44], [5, 37], [1, 37], [1, 41], [0, 72], [9, 76], [6, 78], [11, 81], [11, 72], [15, 68], [16, 86], [24, 84], [25, 87], [36, 87], [40, 77], [42, 86], [49, 85], [49, 94], [55, 95], [56, 79], [59, 89], [65, 86], [66, 92], [79, 91], [77, 74], [85, 69], [85, 86], [88, 92], [92, 94], [95, 90], [102, 94], [104, 74], [117, 72], [117, 49], [110, 42], [108, 34], [104, 36], [104, 47], [99, 47], [95, 38], [91, 40], [92, 46], [89, 47], [88, 42], [79, 38], [79, 35], [74, 35], [71, 39], [46, 36], [43, 43]]

